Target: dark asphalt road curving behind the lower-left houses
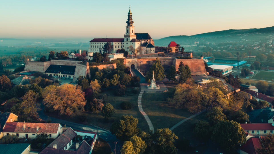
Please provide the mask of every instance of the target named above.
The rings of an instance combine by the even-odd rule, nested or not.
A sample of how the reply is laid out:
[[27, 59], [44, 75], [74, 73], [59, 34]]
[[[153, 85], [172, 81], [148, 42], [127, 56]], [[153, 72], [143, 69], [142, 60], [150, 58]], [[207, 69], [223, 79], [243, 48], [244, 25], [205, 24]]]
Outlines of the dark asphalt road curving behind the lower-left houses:
[[106, 129], [101, 129], [101, 128], [95, 127], [93, 125], [83, 125], [80, 123], [74, 123], [74, 122], [63, 120], [63, 119], [49, 117], [49, 116], [45, 115], [43, 112], [43, 110], [44, 110], [43, 104], [41, 104], [41, 109], [42, 110], [38, 111], [38, 114], [41, 119], [47, 121], [47, 119], [50, 118], [52, 123], [61, 123], [62, 125], [66, 125], [66, 127], [71, 127], [72, 129], [96, 132], [96, 133], [98, 133], [98, 137], [100, 137], [108, 142], [108, 144], [111, 147], [111, 150], [114, 149], [114, 147], [115, 147], [114, 142], [117, 141], [116, 153], [120, 153], [120, 149], [122, 147], [122, 142], [119, 139], [117, 139], [115, 135], [110, 133], [110, 131], [108, 131]]

